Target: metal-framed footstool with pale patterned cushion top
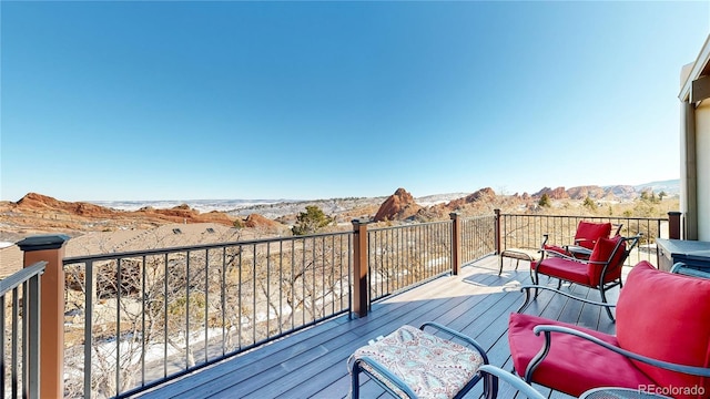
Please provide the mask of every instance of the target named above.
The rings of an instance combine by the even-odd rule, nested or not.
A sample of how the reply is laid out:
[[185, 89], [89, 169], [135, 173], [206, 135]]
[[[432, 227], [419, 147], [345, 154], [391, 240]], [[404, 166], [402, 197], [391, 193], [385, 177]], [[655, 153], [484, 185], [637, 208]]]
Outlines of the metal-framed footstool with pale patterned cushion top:
[[[425, 327], [467, 346], [425, 332]], [[487, 364], [486, 351], [470, 337], [436, 323], [419, 328], [405, 325], [351, 355], [351, 397], [359, 398], [363, 372], [397, 398], [462, 398], [483, 379], [484, 393], [493, 399], [497, 379], [478, 374], [478, 368]]]

